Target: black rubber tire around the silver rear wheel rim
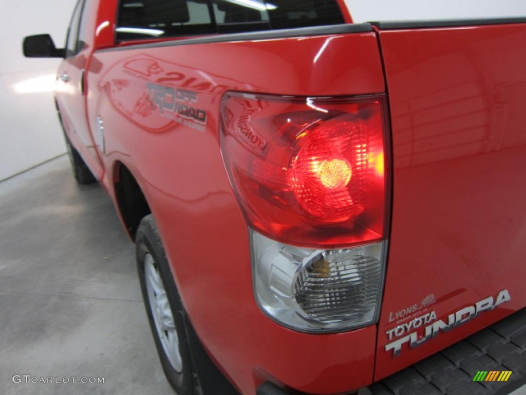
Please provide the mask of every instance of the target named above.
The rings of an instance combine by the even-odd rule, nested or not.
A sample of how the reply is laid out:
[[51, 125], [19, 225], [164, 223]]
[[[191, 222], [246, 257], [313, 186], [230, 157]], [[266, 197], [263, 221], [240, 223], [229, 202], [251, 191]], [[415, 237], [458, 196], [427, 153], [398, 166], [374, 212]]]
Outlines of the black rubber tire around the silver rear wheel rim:
[[[176, 391], [177, 395], [198, 395], [201, 391], [199, 380], [197, 379], [197, 374], [195, 373], [191, 360], [190, 349], [186, 337], [184, 326], [185, 311], [183, 303], [177, 292], [175, 281], [166, 258], [166, 253], [157, 230], [157, 225], [151, 214], [145, 216], [145, 218], [141, 220], [135, 242], [140, 288], [143, 292], [144, 305], [148, 315], [148, 321], [150, 322], [151, 333], [154, 337], [157, 353], [159, 354], [159, 359], [163, 366], [165, 376]], [[155, 268], [163, 282], [174, 318], [175, 329], [179, 339], [179, 352], [182, 361], [182, 369], [180, 372], [177, 372], [173, 368], [166, 355], [163, 344], [159, 339], [157, 327], [151, 311], [145, 276], [145, 258], [147, 254], [150, 254], [154, 259]]]

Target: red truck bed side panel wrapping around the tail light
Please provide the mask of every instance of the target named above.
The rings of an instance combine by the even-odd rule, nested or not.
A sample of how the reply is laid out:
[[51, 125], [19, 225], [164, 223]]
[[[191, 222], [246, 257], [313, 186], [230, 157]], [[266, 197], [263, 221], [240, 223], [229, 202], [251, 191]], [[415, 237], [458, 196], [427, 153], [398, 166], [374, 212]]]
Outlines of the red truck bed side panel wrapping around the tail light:
[[[88, 112], [92, 130], [97, 115], [104, 121], [109, 183], [122, 162], [146, 194], [200, 339], [242, 393], [255, 393], [269, 378], [310, 393], [367, 385], [375, 325], [336, 335], [301, 334], [257, 307], [247, 225], [232, 194], [218, 135], [221, 96], [228, 90], [325, 96], [384, 92], [375, 34], [163, 45], [96, 52], [88, 75]], [[164, 100], [166, 87], [180, 90], [178, 103], [205, 111], [206, 122], [168, 110], [161, 116], [151, 102]], [[159, 90], [161, 96], [155, 96]], [[173, 103], [171, 95], [167, 100]]]

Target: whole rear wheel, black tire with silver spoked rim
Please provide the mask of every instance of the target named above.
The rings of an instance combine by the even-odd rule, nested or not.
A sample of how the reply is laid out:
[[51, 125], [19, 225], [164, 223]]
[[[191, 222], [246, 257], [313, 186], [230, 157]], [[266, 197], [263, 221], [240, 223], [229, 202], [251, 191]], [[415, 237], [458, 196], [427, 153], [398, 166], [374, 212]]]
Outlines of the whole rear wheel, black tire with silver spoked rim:
[[199, 393], [184, 327], [184, 308], [151, 214], [136, 235], [137, 269], [146, 313], [166, 378], [178, 395]]

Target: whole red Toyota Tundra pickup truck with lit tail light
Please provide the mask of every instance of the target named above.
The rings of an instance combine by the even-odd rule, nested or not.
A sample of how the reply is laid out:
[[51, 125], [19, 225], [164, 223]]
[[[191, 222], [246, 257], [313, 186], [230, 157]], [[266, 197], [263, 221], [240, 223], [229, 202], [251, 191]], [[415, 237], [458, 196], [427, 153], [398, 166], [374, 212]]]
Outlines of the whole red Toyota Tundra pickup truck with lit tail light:
[[345, 4], [79, 0], [64, 48], [24, 40], [64, 58], [75, 178], [136, 243], [178, 395], [526, 377], [526, 18]]

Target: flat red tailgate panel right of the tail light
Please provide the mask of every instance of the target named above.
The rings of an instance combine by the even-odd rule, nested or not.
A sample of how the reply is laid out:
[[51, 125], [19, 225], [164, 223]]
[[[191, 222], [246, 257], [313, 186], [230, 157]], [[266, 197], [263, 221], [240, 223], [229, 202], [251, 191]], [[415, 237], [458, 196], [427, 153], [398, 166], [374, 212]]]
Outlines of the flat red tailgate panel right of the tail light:
[[[380, 31], [390, 99], [393, 202], [375, 379], [526, 305], [526, 25]], [[387, 331], [496, 298], [398, 356]]]

